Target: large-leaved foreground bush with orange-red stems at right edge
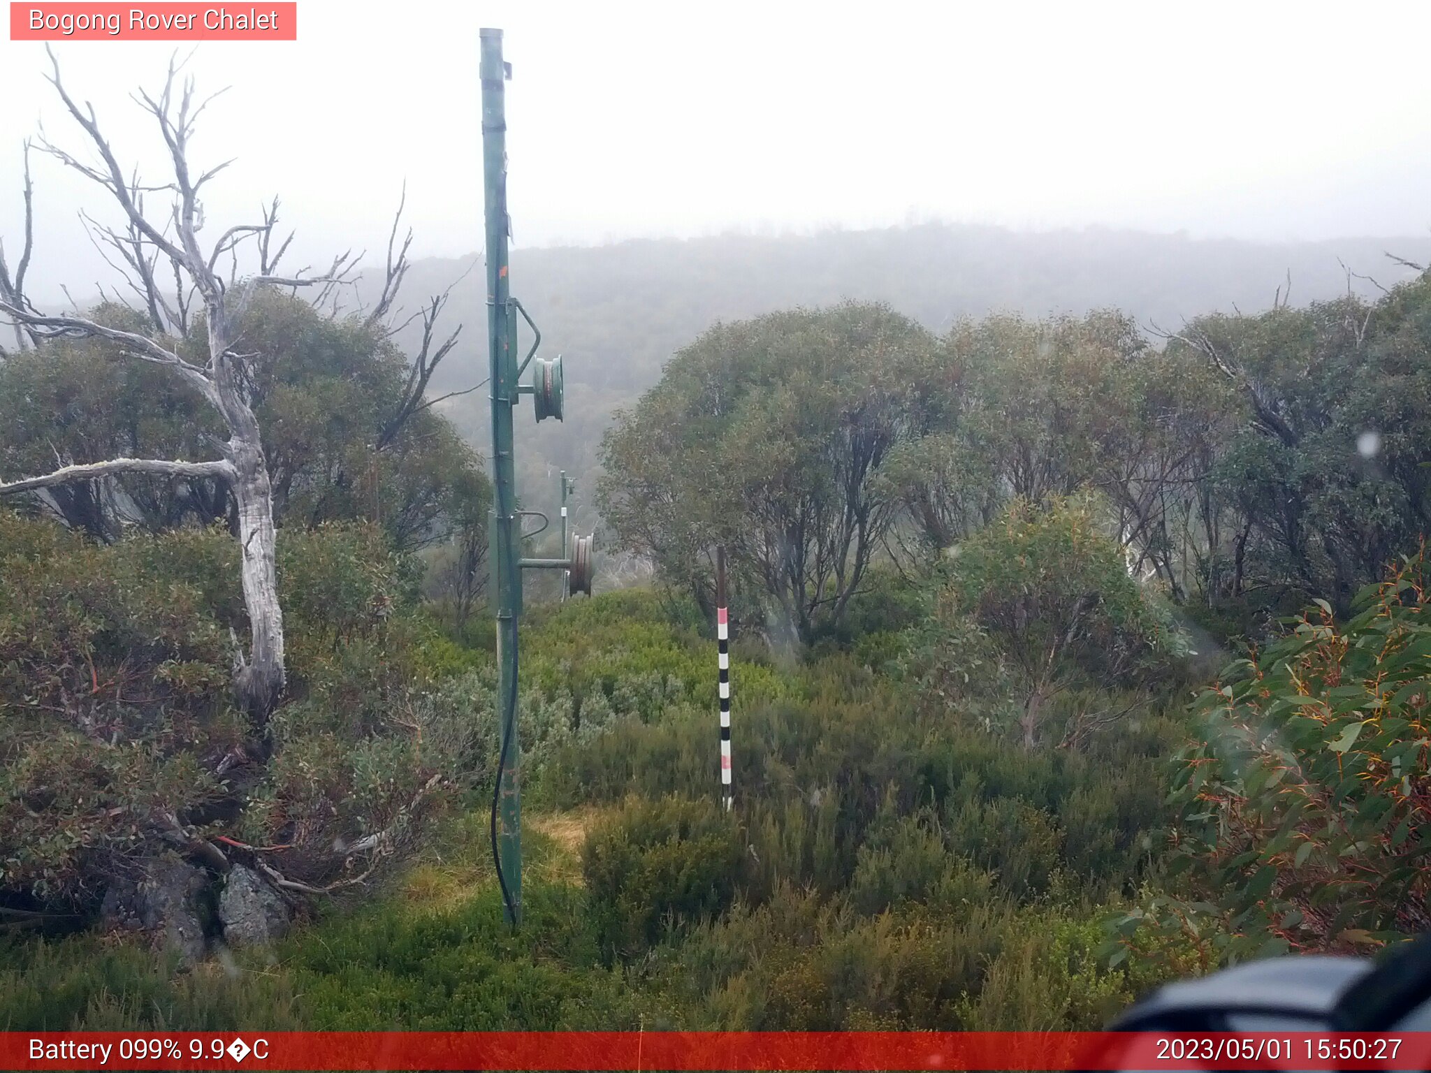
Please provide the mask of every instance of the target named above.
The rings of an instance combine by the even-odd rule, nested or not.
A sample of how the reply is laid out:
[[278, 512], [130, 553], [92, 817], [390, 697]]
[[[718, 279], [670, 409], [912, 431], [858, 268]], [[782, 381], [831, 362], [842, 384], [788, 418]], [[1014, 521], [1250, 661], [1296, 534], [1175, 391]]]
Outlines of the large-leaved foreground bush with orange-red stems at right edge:
[[1202, 694], [1203, 741], [1173, 790], [1171, 871], [1189, 886], [1126, 917], [1125, 936], [1218, 931], [1218, 960], [1239, 960], [1367, 950], [1431, 926], [1427, 571], [1422, 548], [1345, 622], [1318, 601]]

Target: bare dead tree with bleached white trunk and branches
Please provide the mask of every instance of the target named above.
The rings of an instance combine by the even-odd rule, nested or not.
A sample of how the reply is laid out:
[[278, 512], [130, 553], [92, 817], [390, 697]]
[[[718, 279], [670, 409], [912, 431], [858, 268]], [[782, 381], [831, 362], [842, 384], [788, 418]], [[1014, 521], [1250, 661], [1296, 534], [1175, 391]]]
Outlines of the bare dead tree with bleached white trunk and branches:
[[[213, 100], [195, 100], [192, 77], [177, 86], [179, 69], [169, 64], [163, 92], [157, 99], [140, 92], [135, 100], [156, 120], [169, 153], [172, 182], [145, 186], [137, 173], [126, 179], [124, 169], [100, 132], [94, 107], [83, 107], [70, 97], [60, 80], [60, 67], [50, 53], [53, 73], [49, 76], [69, 110], [83, 129], [89, 146], [97, 153], [94, 163], [86, 163], [46, 139], [39, 147], [99, 185], [123, 213], [123, 227], [109, 227], [86, 217], [96, 245], [112, 250], [117, 259], [110, 265], [140, 299], [137, 308], [147, 315], [153, 333], [119, 330], [82, 316], [47, 316], [36, 310], [23, 293], [24, 269], [31, 246], [31, 213], [29, 169], [26, 170], [26, 242], [24, 255], [14, 276], [0, 272], [0, 313], [16, 328], [17, 345], [31, 345], [53, 338], [104, 339], [116, 343], [124, 355], [142, 362], [160, 365], [187, 382], [222, 416], [228, 429], [226, 441], [213, 441], [215, 461], [187, 462], [180, 459], [114, 458], [92, 465], [66, 465], [52, 474], [24, 479], [0, 481], [0, 496], [52, 488], [72, 481], [89, 481], [123, 472], [162, 474], [180, 478], [219, 476], [229, 485], [238, 515], [238, 536], [242, 548], [243, 602], [249, 617], [249, 651], [235, 658], [235, 685], [242, 704], [260, 730], [285, 685], [283, 612], [278, 599], [278, 571], [275, 565], [273, 502], [269, 471], [263, 458], [259, 422], [249, 405], [245, 361], [236, 346], [238, 323], [255, 290], [262, 286], [321, 288], [315, 303], [348, 282], [355, 265], [351, 255], [333, 259], [326, 272], [306, 269], [289, 276], [278, 275], [278, 262], [288, 248], [283, 242], [270, 256], [270, 239], [278, 217], [278, 202], [263, 213], [262, 223], [240, 223], [225, 230], [212, 248], [199, 245], [203, 229], [203, 206], [199, 199], [203, 186], [232, 162], [220, 163], [197, 173], [189, 162], [189, 140], [195, 122]], [[215, 94], [218, 96], [218, 94]], [[146, 195], [166, 199], [162, 222], [145, 210]], [[250, 243], [258, 250], [258, 270], [245, 278], [238, 273], [238, 252]], [[232, 270], [225, 276], [220, 262], [228, 258]], [[160, 285], [160, 278], [165, 285]], [[173, 290], [169, 290], [172, 278]], [[180, 353], [180, 339], [189, 326], [190, 303], [203, 308], [207, 332], [207, 358], [200, 365]]]

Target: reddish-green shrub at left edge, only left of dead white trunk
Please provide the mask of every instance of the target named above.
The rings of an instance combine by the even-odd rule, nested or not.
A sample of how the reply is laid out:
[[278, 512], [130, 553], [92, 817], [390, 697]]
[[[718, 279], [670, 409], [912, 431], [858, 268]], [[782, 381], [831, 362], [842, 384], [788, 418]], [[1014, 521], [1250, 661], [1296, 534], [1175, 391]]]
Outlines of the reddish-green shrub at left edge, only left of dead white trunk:
[[0, 511], [0, 888], [93, 898], [96, 871], [155, 838], [149, 817], [226, 795], [209, 757], [246, 725], [226, 631], [187, 581], [219, 539], [106, 548]]

